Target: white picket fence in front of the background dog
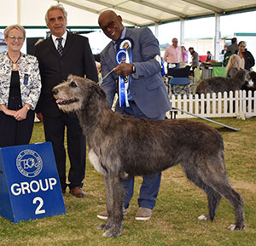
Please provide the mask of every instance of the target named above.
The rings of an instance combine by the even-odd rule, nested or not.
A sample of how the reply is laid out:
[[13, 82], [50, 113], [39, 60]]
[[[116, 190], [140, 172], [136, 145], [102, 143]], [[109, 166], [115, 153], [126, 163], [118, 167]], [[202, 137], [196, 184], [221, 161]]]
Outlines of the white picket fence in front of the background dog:
[[[256, 116], [256, 91], [230, 91], [221, 94], [184, 94], [170, 96], [172, 108], [181, 109], [200, 117], [254, 117]], [[177, 118], [193, 117], [187, 113], [174, 111]], [[168, 117], [168, 116], [167, 116]], [[172, 115], [173, 117], [173, 115]]]

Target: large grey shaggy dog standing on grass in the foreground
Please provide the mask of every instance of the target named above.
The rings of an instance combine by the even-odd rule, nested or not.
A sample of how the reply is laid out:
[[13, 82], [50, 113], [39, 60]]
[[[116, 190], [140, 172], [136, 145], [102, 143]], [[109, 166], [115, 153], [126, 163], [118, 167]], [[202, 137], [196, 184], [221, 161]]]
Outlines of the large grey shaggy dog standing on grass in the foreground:
[[89, 158], [104, 176], [108, 220], [103, 236], [121, 234], [125, 178], [153, 175], [177, 164], [207, 194], [207, 215], [213, 220], [221, 197], [235, 209], [230, 230], [245, 227], [243, 198], [232, 189], [224, 164], [224, 143], [216, 129], [188, 120], [148, 120], [113, 112], [103, 90], [90, 79], [70, 75], [53, 89], [64, 112], [76, 112], [87, 137]]

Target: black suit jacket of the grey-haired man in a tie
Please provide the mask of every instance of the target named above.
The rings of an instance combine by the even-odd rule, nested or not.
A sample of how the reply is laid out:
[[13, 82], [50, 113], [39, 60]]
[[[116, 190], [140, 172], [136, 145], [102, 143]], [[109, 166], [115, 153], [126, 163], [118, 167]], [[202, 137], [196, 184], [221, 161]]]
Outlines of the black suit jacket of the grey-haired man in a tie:
[[98, 82], [96, 64], [87, 37], [67, 32], [62, 57], [58, 54], [52, 37], [38, 43], [35, 49], [42, 79], [42, 91], [37, 112], [58, 117], [61, 111], [55, 103], [52, 89], [65, 81], [69, 74], [88, 77]]

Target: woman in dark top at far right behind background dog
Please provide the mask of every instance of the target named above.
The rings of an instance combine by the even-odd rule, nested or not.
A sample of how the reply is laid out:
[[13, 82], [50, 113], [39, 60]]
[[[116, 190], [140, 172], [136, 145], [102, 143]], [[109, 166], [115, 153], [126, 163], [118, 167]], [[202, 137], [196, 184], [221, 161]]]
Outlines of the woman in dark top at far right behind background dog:
[[250, 71], [255, 64], [255, 60], [253, 58], [253, 54], [250, 51], [247, 51], [246, 47], [247, 43], [245, 41], [239, 42], [239, 50], [236, 51], [235, 54], [238, 54], [239, 57], [241, 58], [242, 68], [245, 68], [246, 70]]

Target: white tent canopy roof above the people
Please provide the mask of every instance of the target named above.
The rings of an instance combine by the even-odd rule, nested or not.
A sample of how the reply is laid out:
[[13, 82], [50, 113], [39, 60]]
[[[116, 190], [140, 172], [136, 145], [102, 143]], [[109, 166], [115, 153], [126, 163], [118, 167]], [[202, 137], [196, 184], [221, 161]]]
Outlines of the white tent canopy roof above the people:
[[56, 3], [67, 9], [68, 26], [90, 28], [98, 28], [98, 16], [107, 9], [120, 14], [126, 26], [151, 26], [256, 10], [255, 0], [9, 0], [0, 3], [1, 26], [19, 23], [45, 27], [44, 14]]

